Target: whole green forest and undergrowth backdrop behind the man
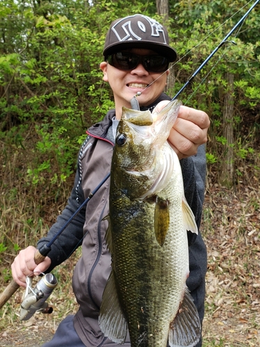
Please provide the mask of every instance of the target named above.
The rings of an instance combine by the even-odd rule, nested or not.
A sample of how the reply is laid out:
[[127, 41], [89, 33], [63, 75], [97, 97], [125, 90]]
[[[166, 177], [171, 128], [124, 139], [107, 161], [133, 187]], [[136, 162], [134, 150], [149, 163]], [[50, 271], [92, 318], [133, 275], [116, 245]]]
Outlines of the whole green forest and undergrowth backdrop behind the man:
[[[10, 264], [19, 249], [45, 235], [65, 206], [86, 129], [113, 108], [113, 95], [99, 69], [111, 22], [142, 13], [168, 27], [179, 55], [166, 89], [174, 96], [252, 3], [1, 0], [1, 285], [10, 280]], [[234, 196], [250, 189], [254, 194], [245, 194], [249, 200], [241, 203], [252, 207], [254, 217], [259, 212], [259, 27], [258, 4], [230, 37], [236, 44], [224, 44], [179, 96], [211, 118], [206, 147], [206, 190], [211, 196], [204, 214], [207, 230], [214, 223], [214, 194], [223, 198], [225, 192], [231, 207]], [[216, 215], [223, 220], [220, 211]], [[252, 226], [248, 232], [254, 230], [255, 244], [260, 237], [257, 222], [245, 218], [245, 223]], [[253, 250], [259, 256], [259, 248]]]

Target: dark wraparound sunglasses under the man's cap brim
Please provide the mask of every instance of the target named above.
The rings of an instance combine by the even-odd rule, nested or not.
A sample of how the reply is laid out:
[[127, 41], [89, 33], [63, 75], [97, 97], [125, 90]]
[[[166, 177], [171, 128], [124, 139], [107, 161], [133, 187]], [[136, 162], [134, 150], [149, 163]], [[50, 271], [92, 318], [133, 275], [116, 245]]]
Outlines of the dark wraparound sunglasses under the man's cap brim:
[[130, 52], [117, 52], [108, 56], [106, 61], [116, 69], [128, 71], [142, 64], [146, 71], [164, 72], [168, 69], [169, 60], [163, 56], [138, 56]]

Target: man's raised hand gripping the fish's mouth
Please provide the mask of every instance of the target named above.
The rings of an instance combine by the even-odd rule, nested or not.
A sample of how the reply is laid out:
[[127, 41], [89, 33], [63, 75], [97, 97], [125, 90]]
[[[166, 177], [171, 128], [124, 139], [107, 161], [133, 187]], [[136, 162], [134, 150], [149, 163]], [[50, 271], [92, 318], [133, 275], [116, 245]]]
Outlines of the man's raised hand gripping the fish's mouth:
[[[161, 101], [156, 105], [154, 112], [159, 112], [169, 102]], [[209, 124], [209, 116], [204, 111], [187, 106], [180, 107], [178, 117], [168, 137], [168, 142], [179, 159], [195, 155], [198, 146], [206, 143]]]

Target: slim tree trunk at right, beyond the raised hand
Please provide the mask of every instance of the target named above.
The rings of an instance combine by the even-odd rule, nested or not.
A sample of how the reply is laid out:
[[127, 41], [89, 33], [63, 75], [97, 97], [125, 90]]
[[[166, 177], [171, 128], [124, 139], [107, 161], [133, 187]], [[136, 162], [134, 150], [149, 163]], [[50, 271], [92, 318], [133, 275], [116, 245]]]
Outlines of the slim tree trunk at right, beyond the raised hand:
[[234, 74], [227, 72], [227, 91], [224, 96], [223, 137], [227, 139], [220, 173], [220, 183], [226, 187], [234, 185]]

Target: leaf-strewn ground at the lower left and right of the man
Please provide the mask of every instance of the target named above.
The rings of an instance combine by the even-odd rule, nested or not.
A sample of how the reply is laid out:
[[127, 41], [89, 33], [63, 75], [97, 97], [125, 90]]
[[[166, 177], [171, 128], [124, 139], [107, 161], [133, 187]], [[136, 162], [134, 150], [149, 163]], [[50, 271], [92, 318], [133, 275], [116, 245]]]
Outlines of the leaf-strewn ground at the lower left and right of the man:
[[[240, 187], [234, 193], [216, 185], [206, 194], [201, 228], [208, 249], [203, 347], [260, 346], [259, 212], [259, 189], [254, 187]], [[0, 346], [38, 347], [49, 341], [63, 318], [60, 305], [70, 298], [63, 316], [76, 310], [68, 288], [66, 299], [51, 315], [35, 314], [22, 323], [17, 317], [2, 327]], [[20, 295], [9, 304], [15, 306], [16, 315]], [[1, 312], [5, 316], [8, 309]]]

